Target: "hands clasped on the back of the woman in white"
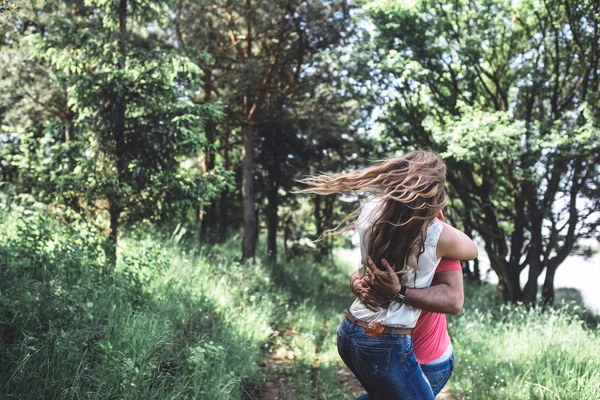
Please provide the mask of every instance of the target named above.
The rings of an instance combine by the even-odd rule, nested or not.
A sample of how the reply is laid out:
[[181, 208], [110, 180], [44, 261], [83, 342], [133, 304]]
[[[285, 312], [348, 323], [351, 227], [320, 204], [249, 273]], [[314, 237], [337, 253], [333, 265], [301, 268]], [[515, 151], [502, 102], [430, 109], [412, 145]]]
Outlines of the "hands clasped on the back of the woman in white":
[[384, 270], [377, 268], [371, 257], [368, 258], [365, 276], [352, 281], [352, 292], [371, 311], [379, 311], [390, 305], [392, 296], [400, 292], [398, 274], [386, 259], [381, 259]]

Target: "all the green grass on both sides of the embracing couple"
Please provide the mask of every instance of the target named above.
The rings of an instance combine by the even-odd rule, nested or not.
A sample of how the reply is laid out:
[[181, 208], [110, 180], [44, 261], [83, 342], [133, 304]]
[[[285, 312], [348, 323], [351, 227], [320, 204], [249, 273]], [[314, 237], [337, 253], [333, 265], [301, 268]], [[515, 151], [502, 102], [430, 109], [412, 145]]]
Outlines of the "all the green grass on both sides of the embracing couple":
[[[276, 378], [284, 399], [351, 398], [335, 349], [347, 266], [243, 265], [239, 238], [194, 249], [134, 232], [108, 279], [85, 225], [17, 209], [0, 229], [0, 395], [240, 399]], [[493, 290], [467, 286], [465, 310], [449, 318], [453, 393], [600, 398], [600, 334], [584, 313], [503, 306]]]

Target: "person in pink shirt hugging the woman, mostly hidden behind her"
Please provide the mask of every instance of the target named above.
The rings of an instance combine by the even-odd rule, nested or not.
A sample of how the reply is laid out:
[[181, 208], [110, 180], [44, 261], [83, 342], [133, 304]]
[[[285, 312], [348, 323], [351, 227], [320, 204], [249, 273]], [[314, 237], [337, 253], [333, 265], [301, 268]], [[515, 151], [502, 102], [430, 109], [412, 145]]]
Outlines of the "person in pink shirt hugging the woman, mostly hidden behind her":
[[[385, 270], [369, 260], [367, 279], [353, 280], [352, 291], [373, 310], [386, 307], [389, 298], [400, 292], [400, 283], [391, 267], [382, 260]], [[388, 268], [389, 267], [389, 268]], [[393, 272], [393, 270], [391, 270]], [[454, 351], [446, 326], [446, 314], [460, 313], [463, 302], [463, 278], [460, 262], [442, 258], [428, 288], [406, 289], [404, 302], [421, 312], [412, 332], [413, 351], [437, 395], [450, 380], [454, 369]], [[357, 400], [367, 400], [363, 395]]]

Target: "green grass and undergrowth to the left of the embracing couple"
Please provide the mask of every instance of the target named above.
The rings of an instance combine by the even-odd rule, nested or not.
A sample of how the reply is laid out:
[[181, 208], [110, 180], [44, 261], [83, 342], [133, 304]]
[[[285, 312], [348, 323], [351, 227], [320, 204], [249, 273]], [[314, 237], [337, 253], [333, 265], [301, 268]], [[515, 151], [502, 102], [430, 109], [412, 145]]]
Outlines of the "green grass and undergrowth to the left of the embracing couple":
[[144, 227], [120, 239], [111, 271], [86, 223], [58, 225], [43, 205], [2, 206], [0, 395], [252, 398], [275, 368], [259, 361], [283, 346], [287, 398], [339, 398], [337, 360], [316, 356], [335, 343], [325, 332], [343, 311], [339, 267], [241, 263], [239, 237], [195, 247], [181, 229]]

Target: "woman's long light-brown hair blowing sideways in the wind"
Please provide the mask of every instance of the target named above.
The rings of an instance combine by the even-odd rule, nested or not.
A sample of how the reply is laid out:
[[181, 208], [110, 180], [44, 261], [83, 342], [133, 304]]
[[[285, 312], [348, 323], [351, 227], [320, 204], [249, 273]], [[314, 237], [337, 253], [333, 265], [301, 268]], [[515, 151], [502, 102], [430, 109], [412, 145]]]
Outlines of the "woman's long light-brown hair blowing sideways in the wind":
[[[322, 174], [300, 181], [300, 193], [329, 195], [367, 192], [382, 199], [382, 210], [371, 226], [369, 255], [377, 265], [385, 258], [404, 273], [424, 251], [427, 228], [446, 205], [446, 165], [433, 151], [419, 150], [388, 159], [380, 165], [342, 174]], [[352, 229], [357, 212], [319, 240]]]

